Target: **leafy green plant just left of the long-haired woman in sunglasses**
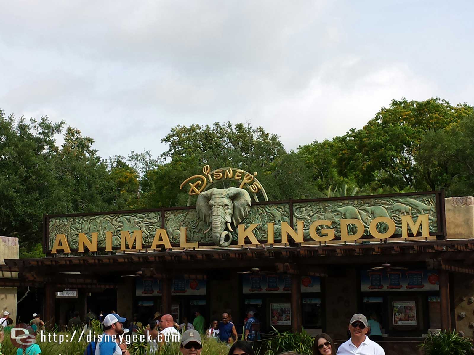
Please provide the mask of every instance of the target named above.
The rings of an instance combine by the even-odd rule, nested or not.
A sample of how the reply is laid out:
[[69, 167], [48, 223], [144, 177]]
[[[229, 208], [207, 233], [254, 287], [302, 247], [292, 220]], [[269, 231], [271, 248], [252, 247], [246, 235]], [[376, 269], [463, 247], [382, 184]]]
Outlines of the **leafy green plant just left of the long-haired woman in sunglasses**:
[[273, 330], [275, 337], [264, 341], [264, 355], [275, 355], [284, 351], [295, 351], [301, 355], [313, 353], [314, 338], [304, 329], [301, 333], [292, 333], [291, 331], [280, 333], [275, 328]]

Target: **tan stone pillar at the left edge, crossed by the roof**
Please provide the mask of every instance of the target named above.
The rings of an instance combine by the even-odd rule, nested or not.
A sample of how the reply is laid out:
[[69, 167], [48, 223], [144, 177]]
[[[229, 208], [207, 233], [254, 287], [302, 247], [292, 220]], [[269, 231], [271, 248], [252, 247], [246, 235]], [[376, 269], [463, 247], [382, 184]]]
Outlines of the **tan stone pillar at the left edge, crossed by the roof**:
[[[18, 238], [0, 237], [0, 265], [5, 265], [4, 259], [18, 259]], [[0, 277], [18, 278], [17, 272], [0, 272]], [[0, 314], [9, 311], [14, 324], [17, 321], [16, 287], [0, 287]]]

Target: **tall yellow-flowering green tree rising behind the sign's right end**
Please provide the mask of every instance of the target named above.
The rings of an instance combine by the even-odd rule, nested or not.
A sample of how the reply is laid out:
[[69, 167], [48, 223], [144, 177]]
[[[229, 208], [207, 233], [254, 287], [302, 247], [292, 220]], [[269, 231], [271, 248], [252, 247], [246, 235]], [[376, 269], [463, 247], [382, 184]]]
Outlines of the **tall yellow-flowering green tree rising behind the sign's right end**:
[[354, 178], [359, 186], [435, 189], [416, 164], [420, 142], [428, 132], [456, 124], [472, 112], [471, 106], [452, 106], [440, 98], [392, 100], [363, 128], [336, 139], [339, 173]]

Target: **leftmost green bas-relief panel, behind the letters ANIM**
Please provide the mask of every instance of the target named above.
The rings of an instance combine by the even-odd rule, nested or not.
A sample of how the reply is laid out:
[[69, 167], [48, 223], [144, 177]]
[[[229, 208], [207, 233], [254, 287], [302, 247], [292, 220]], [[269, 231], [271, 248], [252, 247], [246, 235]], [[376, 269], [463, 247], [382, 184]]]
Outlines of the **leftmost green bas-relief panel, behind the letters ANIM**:
[[112, 232], [112, 247], [120, 246], [120, 231], [143, 231], [143, 245], [151, 245], [156, 229], [161, 228], [161, 211], [112, 213], [77, 217], [52, 217], [49, 220], [49, 249], [56, 234], [65, 234], [71, 248], [78, 247], [79, 233], [91, 238], [97, 232], [98, 248], [105, 248], [105, 232]]

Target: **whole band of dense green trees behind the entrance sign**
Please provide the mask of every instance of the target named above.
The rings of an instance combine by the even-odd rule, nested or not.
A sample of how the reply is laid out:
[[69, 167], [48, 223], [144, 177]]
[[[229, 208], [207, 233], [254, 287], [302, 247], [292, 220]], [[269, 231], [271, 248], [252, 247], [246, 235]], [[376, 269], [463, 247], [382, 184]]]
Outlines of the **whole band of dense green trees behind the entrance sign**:
[[472, 106], [402, 98], [364, 127], [296, 151], [262, 127], [228, 122], [177, 125], [159, 156], [132, 151], [105, 160], [91, 137], [64, 121], [0, 110], [0, 233], [19, 237], [22, 257], [40, 256], [44, 214], [182, 206], [188, 195], [180, 184], [205, 164], [257, 171], [271, 200], [442, 188], [473, 195], [473, 141]]

